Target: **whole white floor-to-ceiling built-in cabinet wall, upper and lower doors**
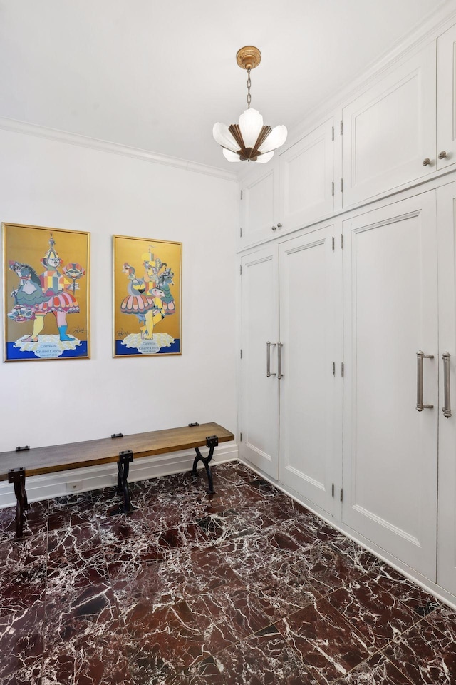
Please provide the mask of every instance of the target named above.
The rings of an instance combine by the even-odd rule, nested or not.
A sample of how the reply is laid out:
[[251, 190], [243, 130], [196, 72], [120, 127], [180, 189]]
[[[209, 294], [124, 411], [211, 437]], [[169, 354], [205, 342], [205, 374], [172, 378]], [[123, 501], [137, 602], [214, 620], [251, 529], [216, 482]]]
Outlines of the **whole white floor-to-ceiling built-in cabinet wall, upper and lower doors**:
[[242, 180], [239, 454], [456, 603], [455, 103], [453, 26]]

